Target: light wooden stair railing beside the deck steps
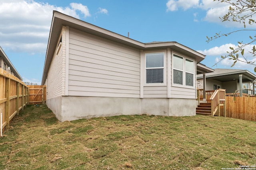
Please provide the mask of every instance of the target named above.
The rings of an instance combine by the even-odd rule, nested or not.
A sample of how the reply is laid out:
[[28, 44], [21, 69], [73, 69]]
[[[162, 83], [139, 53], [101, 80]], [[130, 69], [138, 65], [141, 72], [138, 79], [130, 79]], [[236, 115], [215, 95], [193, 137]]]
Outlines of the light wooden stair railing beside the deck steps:
[[212, 107], [212, 116], [218, 112], [218, 116], [220, 116], [220, 106], [223, 106], [224, 116], [226, 117], [226, 90], [225, 89], [217, 89], [212, 94], [211, 98], [211, 107]]

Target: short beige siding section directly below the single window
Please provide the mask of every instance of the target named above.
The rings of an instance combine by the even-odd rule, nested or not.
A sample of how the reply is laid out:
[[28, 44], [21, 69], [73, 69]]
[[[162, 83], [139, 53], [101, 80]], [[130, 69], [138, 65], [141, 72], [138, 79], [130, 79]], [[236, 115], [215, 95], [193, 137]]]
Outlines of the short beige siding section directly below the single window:
[[144, 98], [167, 98], [167, 86], [144, 86]]

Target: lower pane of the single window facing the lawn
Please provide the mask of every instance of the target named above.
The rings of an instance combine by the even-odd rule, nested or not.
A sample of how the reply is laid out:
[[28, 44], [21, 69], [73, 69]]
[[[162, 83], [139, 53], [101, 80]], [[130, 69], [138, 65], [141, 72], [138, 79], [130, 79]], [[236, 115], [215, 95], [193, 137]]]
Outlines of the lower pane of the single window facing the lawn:
[[146, 83], [163, 83], [164, 68], [147, 69]]

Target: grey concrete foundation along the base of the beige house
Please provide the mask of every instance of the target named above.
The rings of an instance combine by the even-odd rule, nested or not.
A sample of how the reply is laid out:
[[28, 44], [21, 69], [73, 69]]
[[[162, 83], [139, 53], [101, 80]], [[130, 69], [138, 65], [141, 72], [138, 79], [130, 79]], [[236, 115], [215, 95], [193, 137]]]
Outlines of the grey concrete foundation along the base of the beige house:
[[61, 122], [114, 115], [196, 115], [195, 99], [61, 96], [46, 104]]

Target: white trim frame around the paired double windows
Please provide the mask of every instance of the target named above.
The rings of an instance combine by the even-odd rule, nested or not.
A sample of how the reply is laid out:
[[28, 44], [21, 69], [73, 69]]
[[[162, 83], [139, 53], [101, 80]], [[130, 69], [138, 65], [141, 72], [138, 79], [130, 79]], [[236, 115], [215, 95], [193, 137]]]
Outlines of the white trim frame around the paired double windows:
[[[179, 69], [177, 69], [177, 68], [174, 68], [174, 60], [173, 60], [173, 57], [174, 57], [174, 55], [178, 55], [178, 56], [180, 56], [180, 57], [182, 57], [183, 58], [183, 70], [179, 70]], [[193, 70], [194, 70], [194, 72], [193, 72], [193, 86], [186, 86], [186, 59], [188, 59], [188, 60], [190, 60], [190, 61], [193, 61], [194, 62], [194, 64], [193, 64]], [[195, 85], [196, 85], [196, 61], [194, 60], [194, 59], [191, 59], [191, 58], [189, 58], [189, 57], [186, 57], [186, 56], [184, 56], [184, 55], [182, 55], [182, 54], [179, 54], [179, 53], [172, 53], [172, 86], [174, 86], [174, 87], [180, 87], [180, 88], [191, 88], [191, 89], [194, 89], [195, 88]], [[179, 70], [179, 71], [182, 71], [182, 85], [181, 84], [174, 84], [174, 82], [173, 82], [173, 80], [174, 80], [174, 78], [173, 78], [173, 70]], [[192, 74], [192, 72], [188, 72], [188, 73], [190, 73], [190, 74]]]

